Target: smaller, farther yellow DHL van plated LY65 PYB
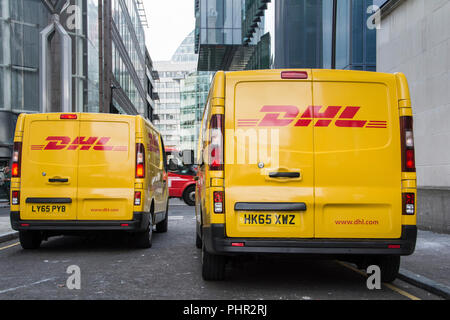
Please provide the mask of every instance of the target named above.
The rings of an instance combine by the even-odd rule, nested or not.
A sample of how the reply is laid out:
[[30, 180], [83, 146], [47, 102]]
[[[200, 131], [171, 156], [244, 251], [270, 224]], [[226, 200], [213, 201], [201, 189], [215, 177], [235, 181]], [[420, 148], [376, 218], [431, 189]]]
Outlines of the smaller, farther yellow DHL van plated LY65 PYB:
[[140, 116], [19, 116], [14, 138], [11, 224], [24, 249], [50, 236], [126, 231], [152, 245], [167, 231], [162, 137]]

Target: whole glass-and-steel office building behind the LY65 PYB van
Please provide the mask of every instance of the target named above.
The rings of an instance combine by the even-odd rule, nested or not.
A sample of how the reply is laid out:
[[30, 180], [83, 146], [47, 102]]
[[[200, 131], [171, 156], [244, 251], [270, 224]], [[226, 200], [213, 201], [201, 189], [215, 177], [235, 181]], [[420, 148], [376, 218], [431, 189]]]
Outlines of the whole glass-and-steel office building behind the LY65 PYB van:
[[26, 112], [153, 115], [142, 0], [0, 0], [0, 169]]

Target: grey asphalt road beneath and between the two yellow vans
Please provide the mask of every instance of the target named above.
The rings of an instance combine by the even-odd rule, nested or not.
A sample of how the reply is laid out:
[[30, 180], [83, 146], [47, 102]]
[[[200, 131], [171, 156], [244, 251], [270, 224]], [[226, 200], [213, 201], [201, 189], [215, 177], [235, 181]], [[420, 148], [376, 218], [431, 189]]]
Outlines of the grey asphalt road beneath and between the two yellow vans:
[[[171, 201], [169, 232], [154, 234], [151, 249], [111, 235], [51, 238], [37, 251], [0, 244], [0, 299], [438, 299], [399, 280], [368, 290], [365, 277], [334, 260], [234, 261], [226, 281], [205, 282], [194, 210]], [[71, 265], [80, 267], [80, 290], [66, 286]]]

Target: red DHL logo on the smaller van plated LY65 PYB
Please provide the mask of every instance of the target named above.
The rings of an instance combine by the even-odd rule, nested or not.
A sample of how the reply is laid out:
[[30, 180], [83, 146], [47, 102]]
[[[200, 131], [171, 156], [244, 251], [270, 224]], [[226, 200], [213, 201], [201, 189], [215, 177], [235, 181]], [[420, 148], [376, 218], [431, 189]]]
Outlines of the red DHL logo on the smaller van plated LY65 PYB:
[[127, 146], [111, 146], [108, 143], [110, 137], [76, 137], [74, 140], [70, 137], [47, 137], [45, 145], [32, 145], [31, 150], [95, 150], [95, 151], [128, 151]]

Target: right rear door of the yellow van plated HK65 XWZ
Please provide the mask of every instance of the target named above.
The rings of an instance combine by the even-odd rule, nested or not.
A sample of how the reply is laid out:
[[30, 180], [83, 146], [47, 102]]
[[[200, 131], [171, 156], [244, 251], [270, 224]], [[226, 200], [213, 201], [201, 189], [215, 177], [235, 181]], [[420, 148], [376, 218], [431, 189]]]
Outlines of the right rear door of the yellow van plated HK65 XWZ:
[[[400, 238], [402, 177], [395, 77], [317, 70], [313, 92], [313, 104], [318, 106], [316, 237]], [[339, 112], [323, 119], [322, 113], [331, 106]], [[326, 123], [319, 125], [320, 121]]]

